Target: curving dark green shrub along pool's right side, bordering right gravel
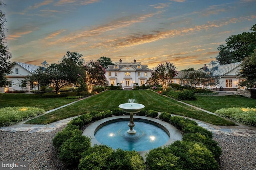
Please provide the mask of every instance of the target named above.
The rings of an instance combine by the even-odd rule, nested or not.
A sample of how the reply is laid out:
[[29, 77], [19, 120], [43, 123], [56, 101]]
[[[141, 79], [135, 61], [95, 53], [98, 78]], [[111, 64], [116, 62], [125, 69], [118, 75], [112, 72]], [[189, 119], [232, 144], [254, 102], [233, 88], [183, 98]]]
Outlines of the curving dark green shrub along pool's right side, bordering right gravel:
[[202, 135], [201, 133], [186, 133], [183, 135], [183, 141], [195, 141], [203, 143], [207, 149], [209, 149], [212, 154], [214, 154], [215, 159], [218, 160], [222, 154], [221, 148], [218, 146], [218, 143], [212, 138]]

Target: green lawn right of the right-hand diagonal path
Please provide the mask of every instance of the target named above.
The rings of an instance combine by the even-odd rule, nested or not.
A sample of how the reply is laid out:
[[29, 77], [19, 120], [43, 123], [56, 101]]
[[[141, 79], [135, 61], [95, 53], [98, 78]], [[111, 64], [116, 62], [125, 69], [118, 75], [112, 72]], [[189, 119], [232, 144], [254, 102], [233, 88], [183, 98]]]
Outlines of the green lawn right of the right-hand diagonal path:
[[200, 107], [215, 113], [216, 110], [228, 107], [251, 107], [256, 108], [256, 99], [246, 98], [239, 95], [228, 96], [197, 96], [194, 101], [182, 101], [193, 106]]

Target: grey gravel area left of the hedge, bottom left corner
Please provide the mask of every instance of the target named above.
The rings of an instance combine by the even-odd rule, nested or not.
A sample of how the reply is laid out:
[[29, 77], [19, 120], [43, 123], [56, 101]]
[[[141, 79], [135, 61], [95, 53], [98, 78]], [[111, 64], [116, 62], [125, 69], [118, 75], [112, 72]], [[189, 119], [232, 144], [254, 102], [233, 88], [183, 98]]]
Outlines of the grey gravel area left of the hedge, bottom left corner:
[[0, 132], [0, 160], [28, 161], [29, 170], [56, 170], [52, 159], [52, 139], [61, 129], [49, 133]]

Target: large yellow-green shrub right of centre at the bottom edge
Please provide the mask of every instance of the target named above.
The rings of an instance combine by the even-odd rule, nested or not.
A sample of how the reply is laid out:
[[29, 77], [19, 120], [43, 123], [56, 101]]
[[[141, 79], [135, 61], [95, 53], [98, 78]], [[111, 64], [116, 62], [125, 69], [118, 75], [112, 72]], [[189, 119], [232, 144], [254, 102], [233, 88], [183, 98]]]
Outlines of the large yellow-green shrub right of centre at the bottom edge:
[[180, 169], [218, 170], [218, 162], [214, 155], [202, 143], [194, 141], [175, 141], [167, 147], [178, 161]]

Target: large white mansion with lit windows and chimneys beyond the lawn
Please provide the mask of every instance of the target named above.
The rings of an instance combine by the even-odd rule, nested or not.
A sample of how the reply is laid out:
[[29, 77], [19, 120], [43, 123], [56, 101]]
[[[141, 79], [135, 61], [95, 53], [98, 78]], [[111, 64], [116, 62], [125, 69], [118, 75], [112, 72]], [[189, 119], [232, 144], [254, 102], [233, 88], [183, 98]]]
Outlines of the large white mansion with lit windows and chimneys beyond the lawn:
[[108, 65], [106, 68], [106, 78], [109, 85], [122, 85], [124, 89], [131, 89], [133, 85], [138, 83], [138, 86], [146, 84], [146, 81], [151, 77], [152, 70], [147, 65], [142, 65], [140, 62], [116, 62], [114, 65]]

